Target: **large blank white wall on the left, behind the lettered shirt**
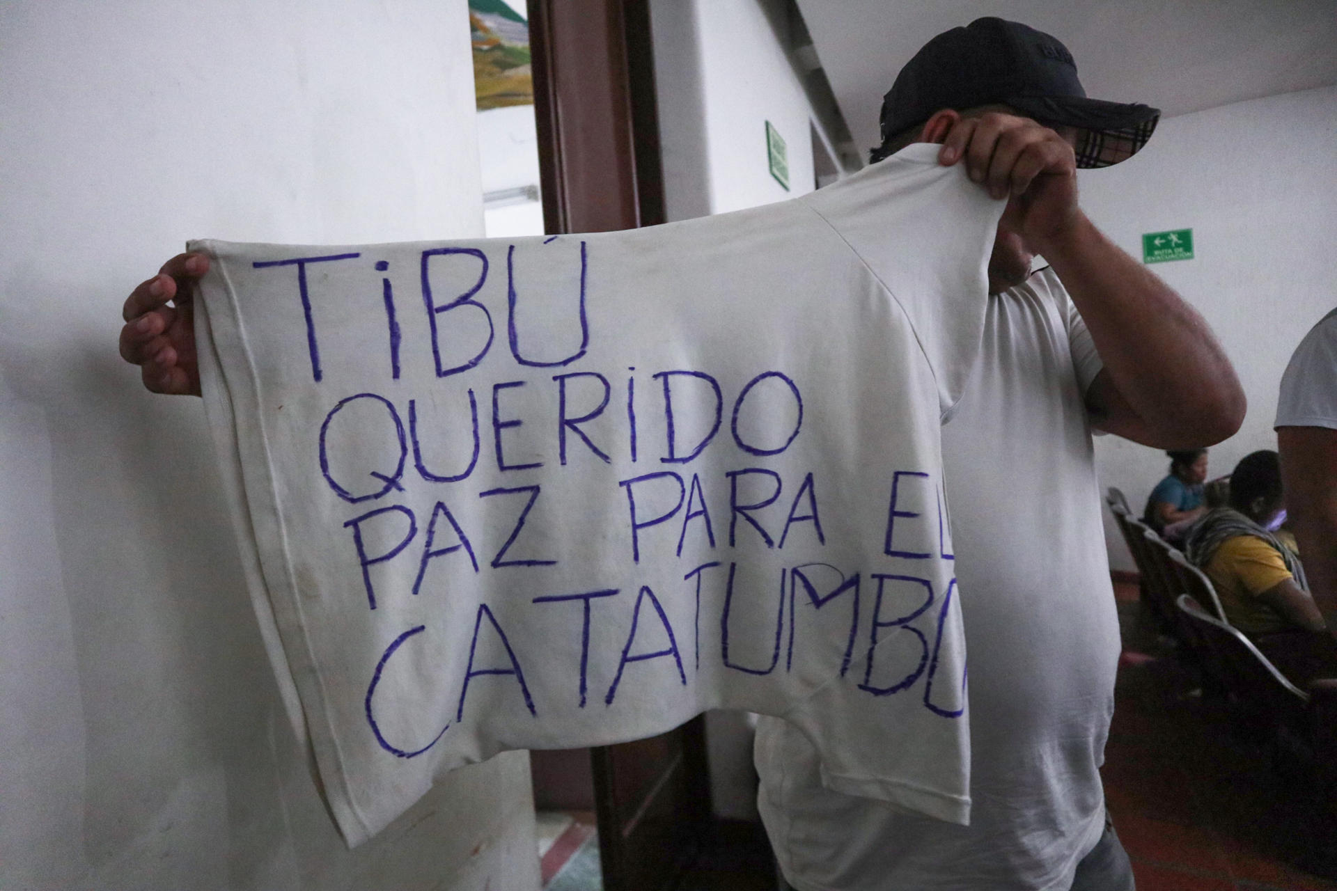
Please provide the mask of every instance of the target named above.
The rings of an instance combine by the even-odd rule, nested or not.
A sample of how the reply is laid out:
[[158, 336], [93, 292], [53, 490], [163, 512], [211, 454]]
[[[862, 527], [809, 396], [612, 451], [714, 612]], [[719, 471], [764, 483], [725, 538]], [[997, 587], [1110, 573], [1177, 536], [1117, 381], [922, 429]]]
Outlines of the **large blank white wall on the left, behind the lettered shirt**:
[[0, 887], [536, 888], [525, 756], [349, 852], [198, 399], [116, 357], [186, 238], [477, 235], [463, 0], [0, 5]]

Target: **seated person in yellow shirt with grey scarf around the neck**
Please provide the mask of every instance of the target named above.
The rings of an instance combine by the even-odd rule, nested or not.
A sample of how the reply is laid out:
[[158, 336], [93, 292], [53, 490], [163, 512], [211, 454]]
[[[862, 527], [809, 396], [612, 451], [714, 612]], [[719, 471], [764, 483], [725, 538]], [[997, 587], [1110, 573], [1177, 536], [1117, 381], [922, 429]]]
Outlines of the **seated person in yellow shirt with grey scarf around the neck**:
[[1309, 596], [1294, 538], [1267, 532], [1284, 508], [1277, 453], [1254, 452], [1230, 474], [1230, 506], [1203, 516], [1185, 552], [1211, 578], [1226, 621], [1304, 687], [1337, 677], [1337, 641]]

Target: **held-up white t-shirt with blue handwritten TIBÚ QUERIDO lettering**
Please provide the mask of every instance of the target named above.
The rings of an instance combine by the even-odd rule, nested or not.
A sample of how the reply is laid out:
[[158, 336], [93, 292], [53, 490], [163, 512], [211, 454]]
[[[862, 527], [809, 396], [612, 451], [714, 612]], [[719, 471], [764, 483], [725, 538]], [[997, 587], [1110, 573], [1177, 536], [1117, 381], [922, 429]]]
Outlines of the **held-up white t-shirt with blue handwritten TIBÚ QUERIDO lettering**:
[[707, 708], [964, 822], [939, 421], [1000, 212], [915, 147], [648, 230], [197, 244], [243, 562], [349, 843], [439, 771]]

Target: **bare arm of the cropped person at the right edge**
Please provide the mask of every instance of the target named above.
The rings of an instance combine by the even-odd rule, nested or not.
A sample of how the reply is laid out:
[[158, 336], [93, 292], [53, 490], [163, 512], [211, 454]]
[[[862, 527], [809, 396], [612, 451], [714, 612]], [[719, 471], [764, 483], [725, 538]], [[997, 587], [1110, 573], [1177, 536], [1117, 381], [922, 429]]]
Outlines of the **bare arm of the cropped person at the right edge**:
[[1337, 633], [1337, 430], [1277, 427], [1286, 516], [1314, 602]]

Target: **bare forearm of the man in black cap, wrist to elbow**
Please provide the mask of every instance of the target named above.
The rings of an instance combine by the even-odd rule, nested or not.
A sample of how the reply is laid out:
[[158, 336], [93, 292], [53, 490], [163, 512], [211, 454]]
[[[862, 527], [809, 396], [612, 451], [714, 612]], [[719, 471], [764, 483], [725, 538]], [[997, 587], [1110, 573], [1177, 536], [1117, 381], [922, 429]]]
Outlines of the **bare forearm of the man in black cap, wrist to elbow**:
[[1230, 359], [1202, 315], [1170, 286], [1084, 214], [1036, 248], [1072, 295], [1114, 387], [1136, 413], [1140, 435], [1132, 438], [1186, 449], [1239, 429], [1245, 394]]

